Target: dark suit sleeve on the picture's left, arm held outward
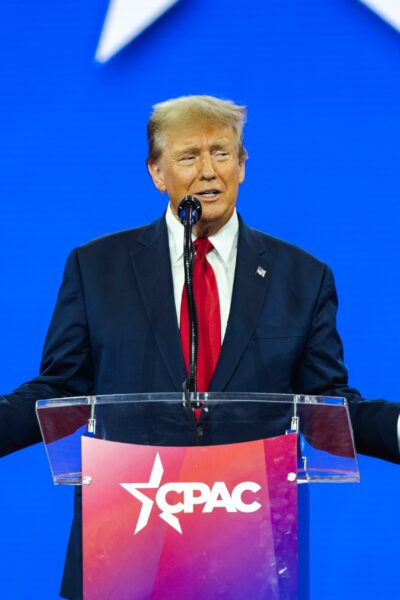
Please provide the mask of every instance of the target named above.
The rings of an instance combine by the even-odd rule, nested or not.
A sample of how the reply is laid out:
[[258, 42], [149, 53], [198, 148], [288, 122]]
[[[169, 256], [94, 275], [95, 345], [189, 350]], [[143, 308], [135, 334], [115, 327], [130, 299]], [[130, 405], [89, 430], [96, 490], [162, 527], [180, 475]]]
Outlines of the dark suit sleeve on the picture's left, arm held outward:
[[35, 402], [85, 396], [93, 369], [78, 255], [68, 258], [44, 345], [40, 375], [11, 394], [0, 396], [0, 455], [41, 440]]

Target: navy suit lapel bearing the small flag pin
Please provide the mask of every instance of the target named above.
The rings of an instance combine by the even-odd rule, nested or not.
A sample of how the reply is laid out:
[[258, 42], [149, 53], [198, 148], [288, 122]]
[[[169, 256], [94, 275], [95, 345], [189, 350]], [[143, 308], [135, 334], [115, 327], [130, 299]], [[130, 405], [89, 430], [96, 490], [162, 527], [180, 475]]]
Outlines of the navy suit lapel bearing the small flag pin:
[[260, 234], [240, 220], [231, 309], [210, 391], [226, 388], [257, 324], [272, 273], [265, 239], [261, 242]]

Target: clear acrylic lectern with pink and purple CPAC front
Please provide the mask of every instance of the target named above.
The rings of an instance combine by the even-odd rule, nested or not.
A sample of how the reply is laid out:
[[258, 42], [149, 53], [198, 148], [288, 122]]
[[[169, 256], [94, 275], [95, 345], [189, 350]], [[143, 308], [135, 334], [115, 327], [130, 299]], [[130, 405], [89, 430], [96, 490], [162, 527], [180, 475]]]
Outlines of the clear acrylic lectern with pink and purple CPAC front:
[[190, 399], [37, 403], [54, 483], [83, 488], [84, 599], [307, 598], [297, 483], [359, 481], [346, 400]]

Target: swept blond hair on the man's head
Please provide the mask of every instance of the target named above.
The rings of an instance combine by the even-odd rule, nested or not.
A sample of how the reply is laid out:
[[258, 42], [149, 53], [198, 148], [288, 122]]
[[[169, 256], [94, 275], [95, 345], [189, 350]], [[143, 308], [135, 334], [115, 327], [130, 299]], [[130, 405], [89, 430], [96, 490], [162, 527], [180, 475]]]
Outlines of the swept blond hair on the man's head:
[[169, 127], [203, 122], [231, 127], [237, 139], [239, 159], [247, 159], [247, 151], [243, 146], [245, 106], [214, 96], [181, 96], [153, 106], [153, 113], [147, 125], [149, 145], [147, 163], [152, 164], [160, 158], [163, 151], [163, 136]]

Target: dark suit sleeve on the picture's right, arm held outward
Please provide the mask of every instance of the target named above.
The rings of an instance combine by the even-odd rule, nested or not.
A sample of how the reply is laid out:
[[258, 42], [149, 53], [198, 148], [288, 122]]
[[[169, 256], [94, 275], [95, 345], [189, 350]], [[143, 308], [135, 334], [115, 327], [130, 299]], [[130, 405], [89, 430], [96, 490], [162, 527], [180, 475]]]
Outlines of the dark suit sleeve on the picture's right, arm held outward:
[[325, 267], [295, 388], [299, 393], [347, 398], [357, 451], [400, 464], [400, 404], [365, 400], [358, 390], [349, 387], [336, 328], [337, 307], [333, 274]]

